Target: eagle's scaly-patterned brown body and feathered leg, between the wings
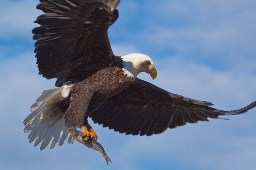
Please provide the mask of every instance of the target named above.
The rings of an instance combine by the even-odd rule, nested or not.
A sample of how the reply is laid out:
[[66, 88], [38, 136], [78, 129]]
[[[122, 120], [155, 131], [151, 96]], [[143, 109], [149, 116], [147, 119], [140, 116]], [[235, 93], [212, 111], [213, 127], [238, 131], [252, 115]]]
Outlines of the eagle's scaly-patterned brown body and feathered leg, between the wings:
[[119, 94], [131, 82], [132, 78], [123, 74], [122, 60], [118, 59], [113, 65], [88, 75], [81, 82], [74, 83], [70, 97], [65, 100], [65, 125], [82, 127], [87, 123], [87, 117], [98, 109], [102, 102]]

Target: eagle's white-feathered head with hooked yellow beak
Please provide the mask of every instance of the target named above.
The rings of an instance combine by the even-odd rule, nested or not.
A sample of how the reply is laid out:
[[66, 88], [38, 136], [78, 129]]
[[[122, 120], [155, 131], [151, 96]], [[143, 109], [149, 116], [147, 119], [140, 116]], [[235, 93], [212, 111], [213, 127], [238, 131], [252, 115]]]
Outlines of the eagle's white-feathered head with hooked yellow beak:
[[152, 79], [157, 77], [157, 70], [154, 67], [154, 62], [147, 55], [132, 53], [121, 56], [121, 58], [123, 65], [122, 71], [127, 77], [131, 77], [134, 80], [140, 72], [150, 74]]

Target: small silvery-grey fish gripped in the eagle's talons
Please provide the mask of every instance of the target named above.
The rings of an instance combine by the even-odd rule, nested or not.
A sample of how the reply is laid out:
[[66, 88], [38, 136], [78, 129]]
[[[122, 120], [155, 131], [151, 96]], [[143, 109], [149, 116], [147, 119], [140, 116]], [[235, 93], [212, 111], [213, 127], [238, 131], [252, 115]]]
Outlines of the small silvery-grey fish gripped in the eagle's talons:
[[99, 144], [99, 142], [97, 142], [95, 139], [89, 138], [88, 140], [84, 140], [84, 134], [81, 131], [73, 130], [73, 129], [69, 129], [68, 131], [69, 131], [70, 135], [74, 139], [76, 139], [78, 142], [80, 142], [81, 144], [84, 144], [86, 147], [92, 148], [92, 149], [100, 152], [102, 154], [102, 156], [105, 158], [107, 164], [108, 164], [108, 162], [112, 163], [111, 159], [106, 154], [102, 145]]

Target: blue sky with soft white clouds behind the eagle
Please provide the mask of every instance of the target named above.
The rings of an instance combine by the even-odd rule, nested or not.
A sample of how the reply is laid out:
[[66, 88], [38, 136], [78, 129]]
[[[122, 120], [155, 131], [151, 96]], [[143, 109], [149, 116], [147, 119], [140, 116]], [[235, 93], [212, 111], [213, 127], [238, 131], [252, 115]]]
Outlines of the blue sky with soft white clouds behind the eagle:
[[[74, 142], [41, 151], [23, 119], [55, 80], [38, 75], [31, 30], [38, 0], [0, 2], [0, 169], [254, 170], [256, 109], [230, 120], [187, 124], [153, 136], [126, 136], [91, 125], [112, 164]], [[109, 29], [114, 54], [149, 55], [167, 91], [234, 110], [256, 99], [255, 0], [121, 0]]]

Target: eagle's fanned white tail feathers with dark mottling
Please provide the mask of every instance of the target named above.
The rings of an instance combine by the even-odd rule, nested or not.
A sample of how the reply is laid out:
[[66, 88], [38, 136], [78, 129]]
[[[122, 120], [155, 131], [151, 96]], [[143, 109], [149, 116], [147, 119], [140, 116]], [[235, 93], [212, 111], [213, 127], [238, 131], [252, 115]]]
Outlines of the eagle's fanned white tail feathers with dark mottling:
[[[23, 124], [26, 126], [24, 132], [29, 132], [29, 142], [35, 141], [34, 146], [42, 142], [40, 149], [43, 150], [50, 143], [50, 148], [64, 143], [68, 138], [68, 143], [73, 143], [74, 139], [68, 133], [65, 126], [64, 112], [58, 108], [59, 102], [66, 99], [73, 85], [62, 85], [59, 88], [43, 91], [36, 102], [31, 106], [31, 113], [26, 117]], [[71, 127], [76, 129], [76, 127]]]

